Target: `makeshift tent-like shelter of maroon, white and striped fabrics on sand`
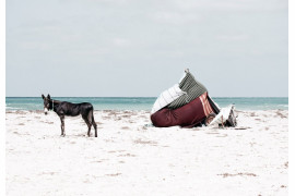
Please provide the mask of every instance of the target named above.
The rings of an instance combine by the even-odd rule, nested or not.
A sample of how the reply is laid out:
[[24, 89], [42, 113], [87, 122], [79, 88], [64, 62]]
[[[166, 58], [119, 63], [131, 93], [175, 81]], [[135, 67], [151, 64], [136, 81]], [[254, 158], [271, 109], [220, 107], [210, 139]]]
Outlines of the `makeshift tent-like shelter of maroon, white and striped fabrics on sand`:
[[211, 120], [215, 124], [220, 122], [226, 124], [229, 113], [226, 111], [219, 115], [220, 111], [219, 106], [209, 97], [206, 88], [186, 70], [179, 84], [163, 91], [156, 99], [151, 111], [151, 120], [158, 127], [209, 125]]

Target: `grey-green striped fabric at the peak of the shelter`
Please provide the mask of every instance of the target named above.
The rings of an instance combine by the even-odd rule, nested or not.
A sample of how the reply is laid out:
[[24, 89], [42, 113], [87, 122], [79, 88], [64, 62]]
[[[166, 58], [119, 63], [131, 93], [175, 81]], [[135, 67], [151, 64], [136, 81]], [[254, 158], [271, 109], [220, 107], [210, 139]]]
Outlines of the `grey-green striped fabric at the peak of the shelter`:
[[206, 91], [206, 88], [198, 81], [194, 79], [191, 73], [187, 73], [186, 76], [179, 83], [179, 88], [182, 91], [186, 91], [186, 95], [180, 96], [172, 103], [167, 106], [168, 109], [177, 109], [180, 108], [197, 97], [200, 97], [202, 94]]

